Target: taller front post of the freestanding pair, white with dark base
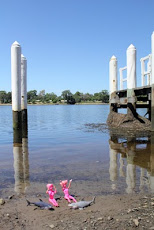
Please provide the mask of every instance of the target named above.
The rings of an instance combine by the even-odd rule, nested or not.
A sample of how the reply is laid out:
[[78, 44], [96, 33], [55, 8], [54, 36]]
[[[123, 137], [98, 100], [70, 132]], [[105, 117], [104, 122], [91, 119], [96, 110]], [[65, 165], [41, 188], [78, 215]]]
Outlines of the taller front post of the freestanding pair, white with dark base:
[[11, 46], [13, 129], [21, 129], [21, 46], [15, 41]]

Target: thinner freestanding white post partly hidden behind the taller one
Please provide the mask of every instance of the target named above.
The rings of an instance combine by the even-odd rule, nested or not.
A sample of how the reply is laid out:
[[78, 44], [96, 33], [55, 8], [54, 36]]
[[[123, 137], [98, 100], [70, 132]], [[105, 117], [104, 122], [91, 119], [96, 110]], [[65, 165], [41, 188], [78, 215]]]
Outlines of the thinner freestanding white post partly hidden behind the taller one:
[[21, 112], [22, 137], [27, 137], [27, 60], [21, 55]]

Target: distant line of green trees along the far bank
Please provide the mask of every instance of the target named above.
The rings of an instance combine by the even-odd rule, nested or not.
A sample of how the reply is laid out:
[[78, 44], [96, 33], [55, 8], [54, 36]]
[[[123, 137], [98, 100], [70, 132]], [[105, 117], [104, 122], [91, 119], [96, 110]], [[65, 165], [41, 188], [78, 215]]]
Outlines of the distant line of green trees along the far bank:
[[[12, 97], [11, 92], [0, 91], [0, 103], [6, 104], [11, 103]], [[70, 90], [62, 91], [60, 96], [55, 93], [45, 93], [45, 90], [41, 90], [37, 93], [37, 90], [30, 90], [27, 92], [27, 102], [30, 104], [36, 103], [88, 103], [88, 102], [109, 102], [109, 93], [107, 90], [102, 90], [99, 93], [81, 93], [77, 91], [75, 94], [71, 93]]]

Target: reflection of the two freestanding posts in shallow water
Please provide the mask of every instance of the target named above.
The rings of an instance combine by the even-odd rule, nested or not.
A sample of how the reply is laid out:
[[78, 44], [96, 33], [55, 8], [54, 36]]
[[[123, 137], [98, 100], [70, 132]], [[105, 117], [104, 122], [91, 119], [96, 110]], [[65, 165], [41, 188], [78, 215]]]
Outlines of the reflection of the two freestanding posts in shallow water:
[[14, 131], [14, 191], [17, 194], [25, 193], [29, 186], [29, 153], [28, 138], [22, 138], [21, 131]]

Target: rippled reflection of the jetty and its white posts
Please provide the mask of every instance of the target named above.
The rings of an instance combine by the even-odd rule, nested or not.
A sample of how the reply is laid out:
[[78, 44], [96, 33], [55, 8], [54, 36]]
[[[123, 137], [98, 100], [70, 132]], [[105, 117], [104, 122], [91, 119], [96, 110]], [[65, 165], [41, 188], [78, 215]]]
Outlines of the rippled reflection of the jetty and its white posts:
[[123, 177], [127, 193], [138, 189], [154, 193], [154, 135], [123, 138], [111, 134], [109, 155], [112, 190], [116, 190], [118, 177]]

